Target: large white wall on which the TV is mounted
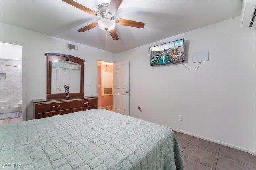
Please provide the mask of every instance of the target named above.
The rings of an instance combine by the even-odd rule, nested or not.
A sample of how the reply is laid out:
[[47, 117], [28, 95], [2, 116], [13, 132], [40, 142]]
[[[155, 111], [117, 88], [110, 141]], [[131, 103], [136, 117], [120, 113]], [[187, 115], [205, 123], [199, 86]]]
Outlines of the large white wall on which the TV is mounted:
[[[209, 61], [150, 66], [149, 47], [181, 38], [187, 67], [198, 66], [196, 51], [209, 50]], [[255, 29], [236, 17], [119, 53], [130, 61], [130, 116], [256, 153], [255, 49]]]

